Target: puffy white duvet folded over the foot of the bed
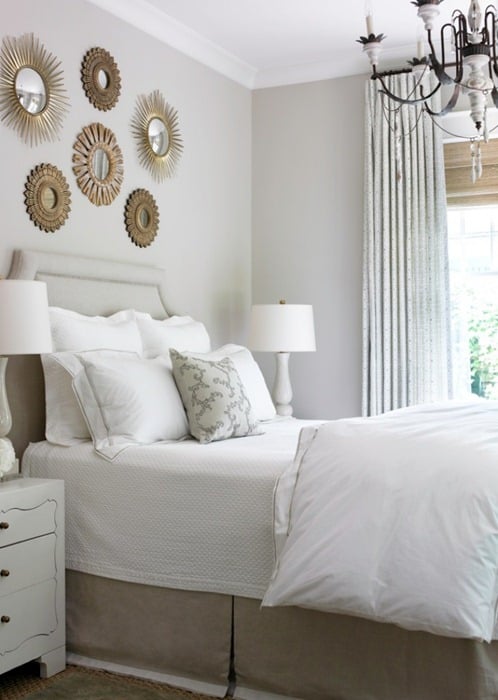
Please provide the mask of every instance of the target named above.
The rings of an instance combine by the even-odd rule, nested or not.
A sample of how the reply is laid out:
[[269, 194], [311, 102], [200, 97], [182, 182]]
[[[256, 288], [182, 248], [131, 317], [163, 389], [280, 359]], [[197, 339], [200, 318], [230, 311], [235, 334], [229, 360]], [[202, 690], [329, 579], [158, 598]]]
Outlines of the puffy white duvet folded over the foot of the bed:
[[263, 605], [498, 638], [498, 402], [305, 428], [274, 513]]

